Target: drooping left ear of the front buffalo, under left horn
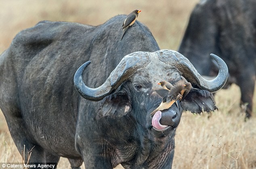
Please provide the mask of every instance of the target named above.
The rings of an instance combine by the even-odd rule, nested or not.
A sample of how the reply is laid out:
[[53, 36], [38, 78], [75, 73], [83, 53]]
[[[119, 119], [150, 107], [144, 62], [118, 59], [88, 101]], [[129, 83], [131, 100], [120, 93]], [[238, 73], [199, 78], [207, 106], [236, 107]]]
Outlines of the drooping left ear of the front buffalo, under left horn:
[[124, 116], [132, 109], [132, 104], [124, 92], [113, 93], [103, 99], [98, 117]]

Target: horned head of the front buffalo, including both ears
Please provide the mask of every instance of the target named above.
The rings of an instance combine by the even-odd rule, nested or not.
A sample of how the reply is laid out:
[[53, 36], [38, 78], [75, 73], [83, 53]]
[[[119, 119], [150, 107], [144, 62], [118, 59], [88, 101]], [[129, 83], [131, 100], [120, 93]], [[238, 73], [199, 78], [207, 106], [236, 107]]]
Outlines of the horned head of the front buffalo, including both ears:
[[[224, 61], [216, 55], [220, 71], [212, 80], [206, 80], [193, 65], [180, 53], [172, 50], [160, 50], [153, 53], [135, 52], [126, 55], [112, 71], [105, 83], [98, 88], [89, 88], [82, 80], [84, 69], [90, 61], [84, 63], [76, 72], [74, 84], [80, 95], [87, 100], [102, 101], [98, 110], [98, 117], [124, 116], [132, 114], [137, 122], [147, 128], [154, 136], [168, 136], [174, 134], [180, 122], [183, 110], [193, 113], [216, 110], [214, 98], [210, 92], [220, 90], [227, 81], [228, 70]], [[154, 88], [162, 79], [175, 83], [183, 75], [194, 87], [181, 102], [173, 104], [162, 114], [157, 113], [153, 118], [158, 125], [151, 124], [150, 113], [162, 101]]]

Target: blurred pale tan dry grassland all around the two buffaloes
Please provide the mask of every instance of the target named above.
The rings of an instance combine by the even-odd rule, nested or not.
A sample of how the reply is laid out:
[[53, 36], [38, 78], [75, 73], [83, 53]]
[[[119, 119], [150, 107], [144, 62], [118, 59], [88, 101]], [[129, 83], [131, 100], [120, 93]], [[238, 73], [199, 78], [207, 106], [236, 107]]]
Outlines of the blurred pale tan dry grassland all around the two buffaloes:
[[[134, 9], [142, 10], [138, 20], [149, 27], [161, 49], [177, 50], [189, 14], [198, 1], [0, 0], [0, 53], [19, 31], [40, 20], [96, 26]], [[183, 113], [175, 136], [174, 169], [256, 168], [256, 114], [244, 122], [244, 113], [239, 108], [240, 91], [235, 85], [221, 90], [215, 98], [219, 111], [210, 118], [207, 114]], [[21, 156], [0, 112], [0, 163], [3, 162], [21, 162]], [[58, 168], [69, 167], [67, 159], [61, 158]]]

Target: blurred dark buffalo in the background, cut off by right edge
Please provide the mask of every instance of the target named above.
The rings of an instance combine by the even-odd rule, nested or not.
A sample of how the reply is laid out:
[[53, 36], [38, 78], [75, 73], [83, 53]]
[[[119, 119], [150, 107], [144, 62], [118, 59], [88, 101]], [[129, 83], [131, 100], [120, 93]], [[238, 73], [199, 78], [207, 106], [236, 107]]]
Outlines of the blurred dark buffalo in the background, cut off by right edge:
[[201, 0], [190, 16], [178, 49], [203, 75], [218, 73], [208, 57], [210, 53], [227, 63], [227, 86], [239, 86], [241, 104], [248, 104], [246, 118], [252, 116], [256, 78], [255, 12], [255, 0]]

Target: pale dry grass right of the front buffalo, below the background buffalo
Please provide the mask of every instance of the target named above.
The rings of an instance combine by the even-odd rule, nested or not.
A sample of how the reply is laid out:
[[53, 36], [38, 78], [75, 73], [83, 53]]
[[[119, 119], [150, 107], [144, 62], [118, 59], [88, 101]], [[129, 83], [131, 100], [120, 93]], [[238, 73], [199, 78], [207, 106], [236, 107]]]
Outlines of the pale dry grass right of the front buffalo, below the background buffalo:
[[256, 118], [244, 122], [239, 92], [235, 85], [218, 92], [219, 111], [210, 118], [183, 114], [175, 136], [174, 168], [235, 169], [236, 162], [239, 169], [256, 168]]

